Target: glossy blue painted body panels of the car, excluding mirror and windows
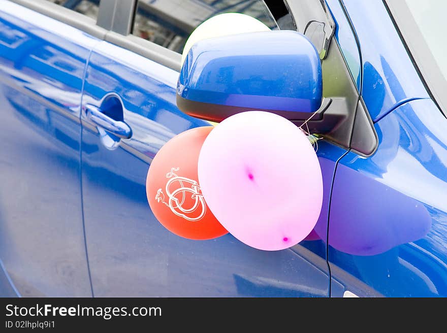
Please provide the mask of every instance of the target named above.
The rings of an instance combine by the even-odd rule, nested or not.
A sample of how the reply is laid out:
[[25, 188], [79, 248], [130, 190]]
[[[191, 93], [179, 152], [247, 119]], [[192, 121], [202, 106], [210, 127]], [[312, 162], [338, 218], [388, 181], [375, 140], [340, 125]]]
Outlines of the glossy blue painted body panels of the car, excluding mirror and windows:
[[0, 296], [91, 295], [85, 241], [97, 296], [447, 296], [447, 119], [382, 2], [344, 1], [362, 57], [327, 4], [379, 146], [318, 142], [317, 225], [267, 252], [182, 239], [150, 211], [152, 158], [208, 124], [177, 109], [177, 72], [0, 0]]

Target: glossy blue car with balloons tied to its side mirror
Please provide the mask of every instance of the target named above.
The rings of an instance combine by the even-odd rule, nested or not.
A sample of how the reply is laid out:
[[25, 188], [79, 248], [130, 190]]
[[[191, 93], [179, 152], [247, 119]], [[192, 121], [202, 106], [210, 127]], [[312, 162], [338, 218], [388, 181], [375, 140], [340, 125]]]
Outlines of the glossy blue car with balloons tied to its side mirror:
[[[0, 295], [447, 296], [446, 11], [434, 0], [0, 0]], [[188, 36], [227, 12], [279, 30], [246, 59], [274, 36], [271, 59], [305, 55], [283, 31], [295, 30], [322, 76], [278, 75], [282, 61], [243, 69], [227, 38], [225, 52], [209, 50], [227, 67], [203, 66], [214, 94], [185, 93]], [[191, 61], [205, 60], [192, 50]], [[295, 84], [323, 98], [275, 109]], [[172, 234], [147, 202], [153, 157], [249, 109], [297, 125], [316, 114], [314, 230], [281, 251]]]

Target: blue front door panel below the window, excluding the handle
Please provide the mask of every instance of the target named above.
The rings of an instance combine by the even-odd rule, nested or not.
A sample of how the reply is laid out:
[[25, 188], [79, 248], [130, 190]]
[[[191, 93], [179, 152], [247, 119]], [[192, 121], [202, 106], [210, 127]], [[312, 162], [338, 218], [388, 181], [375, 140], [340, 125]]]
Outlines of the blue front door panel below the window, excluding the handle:
[[177, 109], [178, 75], [107, 42], [90, 56], [83, 105], [99, 107], [104, 95], [116, 93], [133, 132], [110, 150], [95, 124], [82, 117], [84, 219], [94, 295], [328, 296], [322, 241], [314, 242], [324, 258], [300, 245], [260, 251], [231, 235], [183, 239], [155, 219], [145, 191], [149, 163], [179, 132], [208, 125]]

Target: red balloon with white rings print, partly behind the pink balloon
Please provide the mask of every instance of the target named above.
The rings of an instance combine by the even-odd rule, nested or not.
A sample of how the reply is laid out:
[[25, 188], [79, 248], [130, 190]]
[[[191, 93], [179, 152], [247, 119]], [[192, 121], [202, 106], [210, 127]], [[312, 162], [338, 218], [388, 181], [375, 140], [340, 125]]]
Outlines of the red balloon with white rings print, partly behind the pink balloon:
[[147, 201], [157, 220], [193, 240], [228, 233], [205, 203], [197, 176], [200, 149], [212, 129], [197, 127], [175, 136], [158, 151], [147, 172]]

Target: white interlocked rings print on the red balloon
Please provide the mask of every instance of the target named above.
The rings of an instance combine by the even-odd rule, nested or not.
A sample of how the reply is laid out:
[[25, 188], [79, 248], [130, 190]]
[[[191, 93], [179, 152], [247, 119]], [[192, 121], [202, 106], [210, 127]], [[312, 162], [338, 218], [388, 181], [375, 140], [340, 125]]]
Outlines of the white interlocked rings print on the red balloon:
[[205, 216], [206, 204], [200, 185], [197, 181], [186, 177], [178, 176], [174, 171], [180, 168], [171, 168], [166, 174], [169, 178], [165, 186], [165, 192], [168, 202], [165, 201], [165, 193], [161, 188], [155, 194], [157, 203], [163, 203], [171, 209], [171, 211], [188, 221], [199, 221]]

